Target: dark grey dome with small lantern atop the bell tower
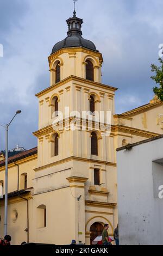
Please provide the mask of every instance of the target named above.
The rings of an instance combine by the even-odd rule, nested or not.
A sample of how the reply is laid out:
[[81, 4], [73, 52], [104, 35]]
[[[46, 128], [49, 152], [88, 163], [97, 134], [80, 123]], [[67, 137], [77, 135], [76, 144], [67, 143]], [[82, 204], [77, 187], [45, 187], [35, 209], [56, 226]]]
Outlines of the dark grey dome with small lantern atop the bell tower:
[[91, 42], [90, 40], [86, 40], [82, 37], [82, 27], [83, 20], [76, 17], [76, 12], [74, 11], [74, 16], [67, 20], [68, 24], [68, 32], [67, 37], [57, 42], [57, 44], [54, 45], [52, 53], [59, 51], [62, 48], [70, 48], [70, 47], [84, 47], [88, 48], [90, 50], [96, 51], [96, 46]]

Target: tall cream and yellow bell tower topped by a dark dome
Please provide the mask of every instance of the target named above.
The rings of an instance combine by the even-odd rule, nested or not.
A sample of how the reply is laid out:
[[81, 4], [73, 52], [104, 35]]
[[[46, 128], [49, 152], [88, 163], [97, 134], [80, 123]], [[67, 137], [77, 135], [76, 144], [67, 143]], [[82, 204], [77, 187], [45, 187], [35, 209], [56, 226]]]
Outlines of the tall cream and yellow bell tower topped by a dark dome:
[[[103, 128], [95, 129], [96, 122], [89, 129], [87, 118], [83, 129], [82, 113], [110, 111], [112, 116], [116, 88], [101, 83], [102, 54], [92, 41], [83, 38], [83, 20], [75, 10], [66, 22], [66, 38], [54, 45], [48, 57], [50, 85], [36, 94], [39, 130], [34, 132], [38, 142], [34, 204], [36, 208], [46, 206], [47, 227], [41, 231], [36, 228], [35, 235], [40, 242], [53, 234], [49, 240], [55, 244], [61, 240], [67, 244], [71, 239], [89, 244], [90, 228], [86, 223], [93, 218], [93, 207], [97, 212], [102, 211], [102, 205], [108, 205], [111, 211], [114, 207], [116, 199], [109, 196], [107, 177], [115, 156], [110, 151], [113, 138], [103, 136]], [[58, 120], [59, 113], [62, 120]], [[72, 122], [78, 129], [71, 129]], [[113, 223], [113, 214], [107, 216]], [[61, 239], [62, 228], [65, 236]]]

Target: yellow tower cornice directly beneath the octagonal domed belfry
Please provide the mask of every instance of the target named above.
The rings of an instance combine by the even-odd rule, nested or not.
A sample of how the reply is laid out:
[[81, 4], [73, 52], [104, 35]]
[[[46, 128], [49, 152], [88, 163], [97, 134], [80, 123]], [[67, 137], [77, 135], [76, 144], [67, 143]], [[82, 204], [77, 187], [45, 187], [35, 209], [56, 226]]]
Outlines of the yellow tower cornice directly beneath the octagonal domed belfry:
[[77, 82], [83, 82], [87, 85], [91, 85], [91, 86], [95, 86], [98, 88], [102, 88], [102, 89], [107, 89], [107, 90], [111, 90], [112, 92], [115, 92], [117, 90], [117, 88], [115, 87], [111, 87], [108, 86], [106, 84], [102, 84], [102, 83], [97, 83], [97, 82], [93, 82], [90, 80], [86, 80], [84, 78], [81, 77], [77, 77], [77, 76], [68, 76], [67, 78], [65, 78], [64, 80], [61, 80], [60, 82], [58, 82], [57, 84], [53, 84], [53, 86], [46, 88], [45, 90], [42, 90], [40, 93], [35, 94], [36, 97], [41, 97], [49, 92], [51, 92], [52, 90], [59, 88], [61, 86], [63, 86], [65, 83], [68, 83], [70, 81], [77, 81]]

